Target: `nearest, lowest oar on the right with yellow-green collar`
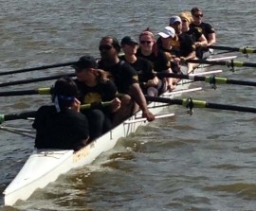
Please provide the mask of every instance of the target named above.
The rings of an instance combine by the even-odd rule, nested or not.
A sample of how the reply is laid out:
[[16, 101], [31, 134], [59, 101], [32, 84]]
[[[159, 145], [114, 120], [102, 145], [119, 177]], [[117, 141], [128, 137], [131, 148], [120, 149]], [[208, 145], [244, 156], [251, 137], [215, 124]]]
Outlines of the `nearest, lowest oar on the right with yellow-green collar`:
[[153, 101], [153, 102], [163, 102], [168, 104], [183, 105], [183, 106], [186, 106], [187, 108], [190, 108], [191, 110], [194, 107], [194, 108], [210, 108], [210, 109], [237, 111], [237, 112], [256, 113], [256, 108], [252, 108], [252, 107], [211, 103], [204, 100], [196, 100], [192, 98], [174, 99], [174, 98], [167, 98], [167, 97], [146, 96], [146, 99], [148, 101]]

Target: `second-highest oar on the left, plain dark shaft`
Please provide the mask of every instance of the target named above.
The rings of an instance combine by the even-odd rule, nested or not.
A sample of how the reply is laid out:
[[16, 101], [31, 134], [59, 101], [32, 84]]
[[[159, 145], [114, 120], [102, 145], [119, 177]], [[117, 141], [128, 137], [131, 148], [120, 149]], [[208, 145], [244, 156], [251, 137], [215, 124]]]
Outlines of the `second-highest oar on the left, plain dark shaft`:
[[0, 83], [0, 87], [26, 84], [26, 83], [30, 83], [30, 82], [46, 81], [46, 80], [51, 80], [51, 79], [59, 79], [61, 77], [74, 77], [74, 76], [75, 76], [74, 73], [70, 73], [70, 74], [57, 75], [57, 76], [51, 76], [51, 77], [41, 77], [41, 78], [37, 78], [37, 79], [20, 79], [20, 80], [14, 80], [14, 81], [9, 81], [9, 82], [2, 82], [2, 83]]

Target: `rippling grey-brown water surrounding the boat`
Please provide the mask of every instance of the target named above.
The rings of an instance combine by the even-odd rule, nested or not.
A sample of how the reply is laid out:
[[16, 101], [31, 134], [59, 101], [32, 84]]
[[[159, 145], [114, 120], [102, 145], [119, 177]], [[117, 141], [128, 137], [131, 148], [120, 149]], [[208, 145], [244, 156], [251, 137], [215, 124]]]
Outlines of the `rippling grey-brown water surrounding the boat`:
[[[219, 45], [256, 46], [254, 1], [1, 1], [1, 72], [76, 61], [83, 54], [99, 56], [102, 36], [137, 37], [151, 26], [155, 34], [168, 18], [200, 6], [217, 31]], [[255, 56], [240, 57], [255, 62]], [[229, 79], [255, 79], [255, 69], [211, 67]], [[1, 77], [1, 82], [32, 79], [70, 68]], [[48, 87], [53, 81], [1, 88], [1, 91]], [[253, 87], [199, 83], [196, 97], [216, 103], [255, 107]], [[197, 84], [193, 84], [198, 86]], [[0, 97], [1, 113], [37, 109], [48, 97]], [[61, 176], [15, 208], [3, 210], [255, 210], [256, 144], [254, 114], [172, 107], [176, 116], [156, 120], [92, 165]], [[30, 122], [5, 125], [29, 128]], [[23, 166], [33, 140], [0, 131], [0, 191]]]

